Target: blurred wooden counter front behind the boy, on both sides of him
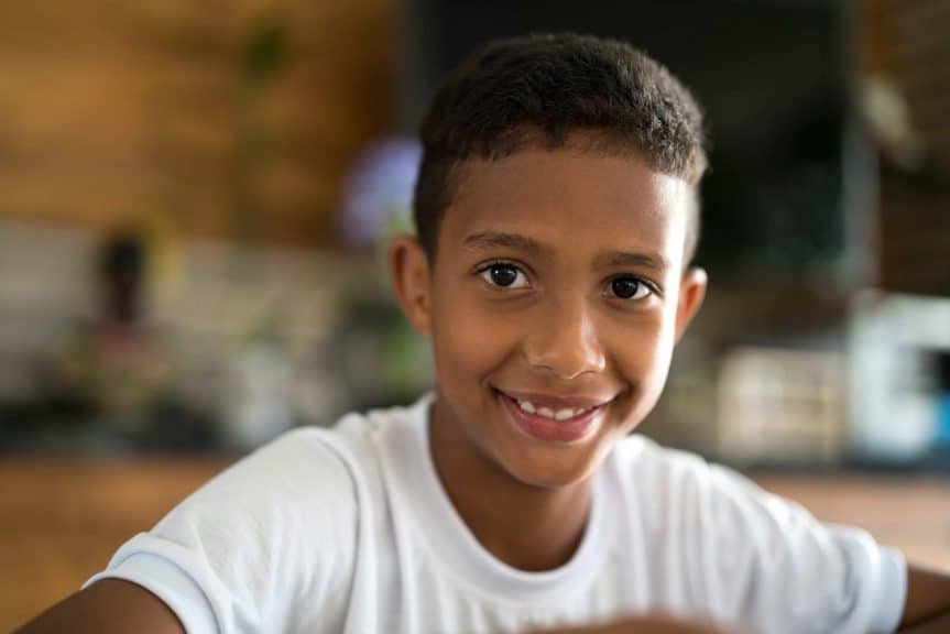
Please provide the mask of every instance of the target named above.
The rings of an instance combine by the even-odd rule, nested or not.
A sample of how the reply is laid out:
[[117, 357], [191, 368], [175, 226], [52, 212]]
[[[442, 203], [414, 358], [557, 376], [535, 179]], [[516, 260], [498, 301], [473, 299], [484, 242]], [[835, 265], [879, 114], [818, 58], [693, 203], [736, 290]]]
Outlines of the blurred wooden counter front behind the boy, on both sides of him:
[[[0, 632], [101, 570], [232, 459], [0, 458]], [[761, 474], [818, 517], [870, 529], [908, 557], [950, 571], [950, 479]]]

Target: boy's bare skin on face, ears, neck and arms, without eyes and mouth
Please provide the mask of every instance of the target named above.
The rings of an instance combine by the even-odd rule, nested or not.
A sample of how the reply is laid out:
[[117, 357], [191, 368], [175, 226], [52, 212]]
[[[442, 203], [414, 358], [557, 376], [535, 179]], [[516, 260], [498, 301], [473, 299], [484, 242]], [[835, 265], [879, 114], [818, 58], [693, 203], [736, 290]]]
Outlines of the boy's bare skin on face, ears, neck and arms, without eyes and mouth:
[[[410, 237], [397, 238], [390, 253], [400, 304], [435, 351], [433, 458], [457, 511], [488, 550], [524, 570], [556, 568], [582, 537], [591, 474], [656, 403], [673, 348], [702, 303], [706, 274], [683, 265], [688, 188], [635, 156], [570, 147], [471, 161], [457, 183], [435, 262]], [[485, 240], [489, 232], [495, 239]], [[500, 241], [499, 233], [539, 249]], [[482, 239], [473, 242], [473, 236]], [[643, 258], [611, 264], [605, 252], [649, 255], [660, 265]], [[493, 261], [520, 267], [524, 278], [516, 288], [496, 287], [479, 273]], [[621, 299], [611, 294], [618, 277], [643, 278], [654, 292]], [[496, 390], [609, 404], [588, 436], [559, 445], [513, 425]], [[950, 577], [909, 567], [902, 627], [950, 632]], [[63, 631], [183, 628], [146, 590], [105, 580], [20, 630]], [[722, 631], [656, 615], [561, 632]]]

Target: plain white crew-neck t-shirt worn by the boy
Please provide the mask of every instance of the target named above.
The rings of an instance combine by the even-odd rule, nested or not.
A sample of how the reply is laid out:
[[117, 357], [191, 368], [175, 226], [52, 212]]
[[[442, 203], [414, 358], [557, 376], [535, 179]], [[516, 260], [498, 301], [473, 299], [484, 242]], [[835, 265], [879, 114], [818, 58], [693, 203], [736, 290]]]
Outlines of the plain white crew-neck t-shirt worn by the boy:
[[897, 626], [898, 553], [637, 435], [596, 477], [571, 560], [514, 569], [438, 480], [430, 401], [284, 435], [125, 543], [87, 586], [143, 586], [190, 633], [516, 632], [655, 610], [768, 634]]

